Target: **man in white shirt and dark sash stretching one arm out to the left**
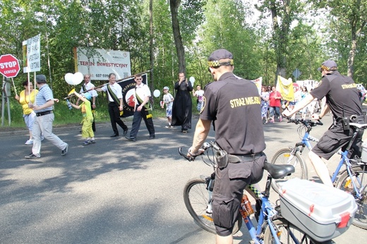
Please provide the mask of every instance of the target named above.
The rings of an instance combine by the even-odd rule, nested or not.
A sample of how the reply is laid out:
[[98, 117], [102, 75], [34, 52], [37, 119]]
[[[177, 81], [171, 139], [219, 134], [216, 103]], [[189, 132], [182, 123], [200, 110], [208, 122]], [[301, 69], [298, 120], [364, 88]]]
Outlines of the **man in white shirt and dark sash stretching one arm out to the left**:
[[117, 130], [116, 123], [124, 130], [124, 135], [128, 133], [128, 127], [125, 125], [123, 121], [121, 121], [120, 115], [124, 111], [124, 103], [122, 102], [122, 88], [121, 85], [116, 83], [116, 75], [114, 73], [110, 73], [108, 75], [109, 83], [104, 85], [101, 88], [95, 88], [97, 92], [107, 92], [109, 104], [108, 104], [108, 113], [109, 119], [111, 120], [112, 130], [114, 130], [114, 134], [111, 135], [111, 138], [115, 138], [119, 136], [119, 130]]

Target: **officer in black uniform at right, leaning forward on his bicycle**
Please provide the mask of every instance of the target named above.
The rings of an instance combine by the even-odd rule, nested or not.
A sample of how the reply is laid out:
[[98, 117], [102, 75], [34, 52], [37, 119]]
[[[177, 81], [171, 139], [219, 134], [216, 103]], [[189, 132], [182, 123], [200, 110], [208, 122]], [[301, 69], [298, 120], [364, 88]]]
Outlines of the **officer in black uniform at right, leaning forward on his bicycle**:
[[[330, 159], [340, 147], [342, 147], [342, 150], [347, 148], [353, 136], [354, 129], [343, 126], [343, 118], [346, 118], [344, 121], [349, 123], [354, 116], [357, 117], [357, 120], [363, 116], [361, 116], [362, 109], [356, 83], [351, 78], [341, 75], [337, 71], [337, 63], [332, 60], [327, 60], [318, 68], [318, 71], [323, 75], [323, 79], [320, 81], [318, 87], [315, 87], [307, 97], [299, 102], [299, 104], [296, 104], [292, 111], [285, 110], [283, 114], [289, 117], [303, 109], [313, 99], [317, 98], [321, 100], [323, 97], [326, 97], [326, 105], [323, 110], [320, 114], [313, 114], [312, 118], [321, 119], [331, 110], [335, 118], [335, 123], [325, 132], [312, 151], [308, 153], [308, 157], [310, 157], [313, 167], [321, 181], [325, 185], [333, 186], [329, 170], [321, 158]], [[360, 135], [357, 135], [357, 140], [353, 147], [354, 150], [350, 153], [351, 158], [354, 157], [354, 154], [359, 154], [362, 135], [363, 131]]]

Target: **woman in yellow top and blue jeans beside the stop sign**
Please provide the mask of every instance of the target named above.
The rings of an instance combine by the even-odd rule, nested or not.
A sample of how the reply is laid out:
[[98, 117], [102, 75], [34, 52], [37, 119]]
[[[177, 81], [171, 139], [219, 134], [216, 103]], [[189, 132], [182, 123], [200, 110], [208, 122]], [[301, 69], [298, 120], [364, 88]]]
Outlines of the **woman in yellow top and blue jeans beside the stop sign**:
[[38, 90], [33, 89], [32, 83], [28, 83], [28, 80], [23, 82], [22, 85], [25, 89], [20, 92], [19, 96], [16, 95], [16, 99], [23, 107], [23, 118], [25, 121], [25, 125], [28, 127], [28, 130], [30, 131], [30, 139], [25, 142], [25, 145], [32, 145], [33, 144], [32, 128], [36, 114], [33, 111], [33, 109], [30, 109], [28, 104], [33, 104], [35, 102], [35, 97], [36, 94], [38, 93]]

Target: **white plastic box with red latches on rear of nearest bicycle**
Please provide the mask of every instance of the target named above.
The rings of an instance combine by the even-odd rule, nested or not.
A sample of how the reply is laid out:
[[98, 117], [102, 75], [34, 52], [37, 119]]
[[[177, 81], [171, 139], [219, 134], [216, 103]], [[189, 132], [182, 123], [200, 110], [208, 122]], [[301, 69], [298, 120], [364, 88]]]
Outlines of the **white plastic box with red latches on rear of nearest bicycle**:
[[316, 241], [347, 231], [357, 210], [352, 195], [321, 183], [293, 178], [280, 190], [282, 216]]

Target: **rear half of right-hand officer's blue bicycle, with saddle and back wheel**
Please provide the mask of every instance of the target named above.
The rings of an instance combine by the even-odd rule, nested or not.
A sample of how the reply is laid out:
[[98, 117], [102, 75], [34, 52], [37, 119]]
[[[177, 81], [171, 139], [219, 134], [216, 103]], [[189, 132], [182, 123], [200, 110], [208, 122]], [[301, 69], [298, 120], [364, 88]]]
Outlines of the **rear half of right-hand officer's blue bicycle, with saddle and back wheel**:
[[[367, 128], [367, 123], [349, 123], [349, 126], [356, 128], [356, 131], [347, 149], [337, 152], [341, 155], [341, 159], [337, 165], [337, 169], [332, 173], [331, 181], [336, 188], [353, 195], [358, 209], [352, 224], [359, 228], [367, 229], [367, 161], [363, 162], [359, 157], [355, 157], [354, 159], [349, 159], [348, 157], [348, 152], [354, 140], [356, 140], [356, 135], [358, 135], [360, 130], [365, 130]], [[343, 164], [345, 164], [346, 169], [340, 171]]]

